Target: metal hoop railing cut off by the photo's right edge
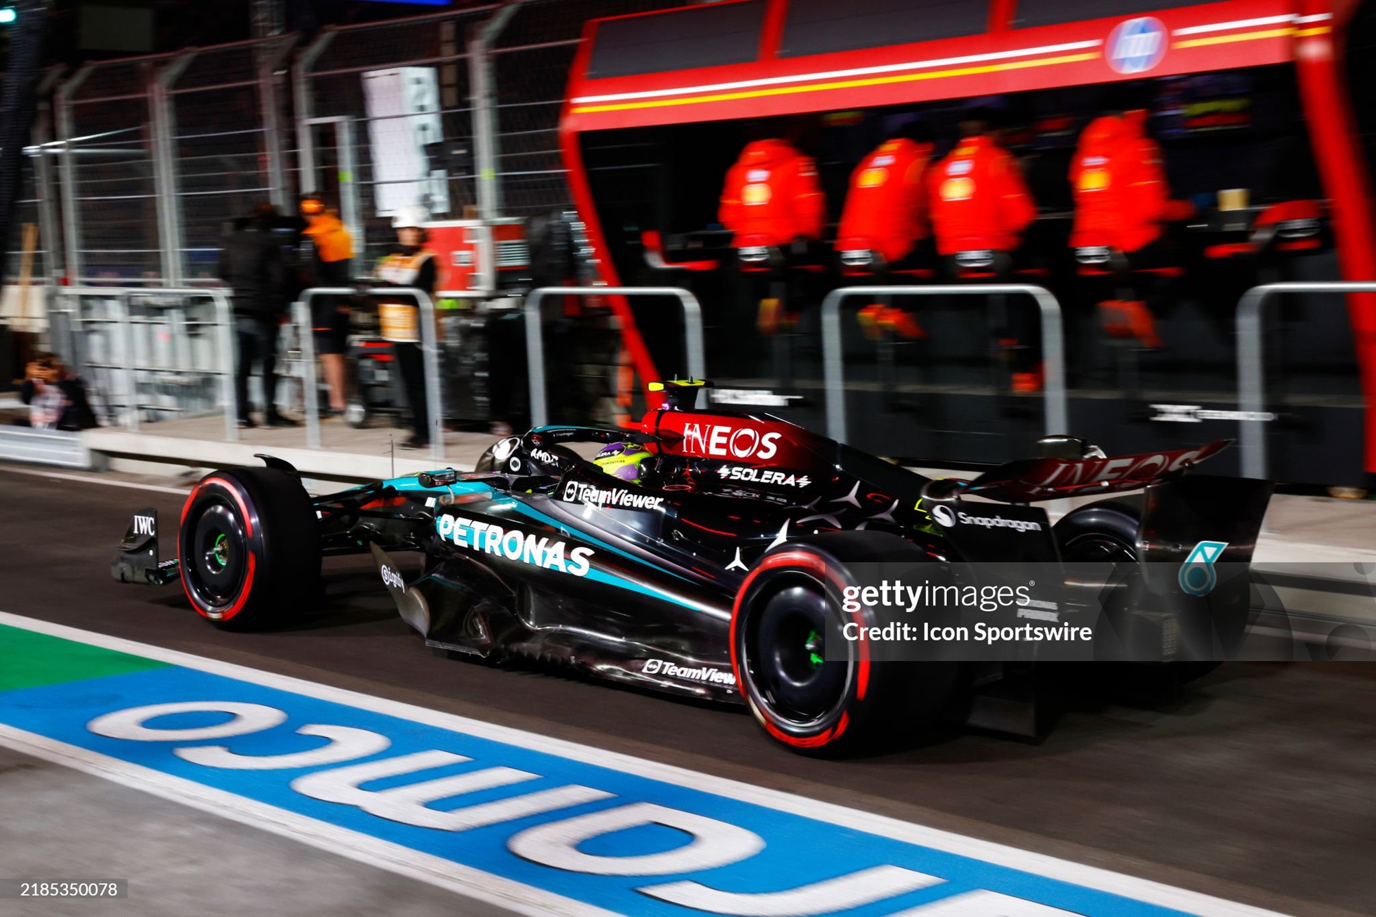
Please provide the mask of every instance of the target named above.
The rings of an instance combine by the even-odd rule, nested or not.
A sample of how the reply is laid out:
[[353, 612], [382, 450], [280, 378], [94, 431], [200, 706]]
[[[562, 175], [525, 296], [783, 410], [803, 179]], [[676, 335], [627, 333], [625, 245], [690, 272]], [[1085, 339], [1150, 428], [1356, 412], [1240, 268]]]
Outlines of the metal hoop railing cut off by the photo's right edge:
[[[1237, 439], [1243, 450], [1243, 477], [1265, 478], [1266, 378], [1262, 352], [1262, 308], [1273, 293], [1376, 293], [1376, 280], [1291, 280], [1254, 286], [1237, 301]], [[1366, 406], [1370, 411], [1372, 406]]]

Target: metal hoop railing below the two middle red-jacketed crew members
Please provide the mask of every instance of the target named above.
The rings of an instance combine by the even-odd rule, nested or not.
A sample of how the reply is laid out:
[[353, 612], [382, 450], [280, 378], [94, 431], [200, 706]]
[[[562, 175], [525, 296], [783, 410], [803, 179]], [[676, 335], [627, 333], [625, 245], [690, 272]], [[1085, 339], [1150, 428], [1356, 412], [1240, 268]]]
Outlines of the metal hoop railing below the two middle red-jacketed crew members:
[[1061, 304], [1046, 287], [1031, 283], [971, 283], [937, 286], [842, 286], [821, 301], [821, 360], [827, 393], [827, 436], [846, 441], [845, 351], [841, 344], [841, 300], [848, 296], [999, 296], [1025, 293], [1042, 311], [1042, 360], [1046, 364], [1046, 432], [1069, 432], [1065, 393], [1065, 334]]

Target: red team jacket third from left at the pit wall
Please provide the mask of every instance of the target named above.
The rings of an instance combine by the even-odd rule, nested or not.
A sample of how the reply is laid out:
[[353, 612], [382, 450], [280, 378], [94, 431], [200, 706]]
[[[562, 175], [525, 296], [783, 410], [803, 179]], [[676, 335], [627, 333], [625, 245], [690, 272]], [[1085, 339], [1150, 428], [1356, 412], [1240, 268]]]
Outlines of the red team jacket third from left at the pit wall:
[[989, 137], [960, 140], [927, 173], [937, 252], [1011, 252], [1036, 219], [1017, 159]]

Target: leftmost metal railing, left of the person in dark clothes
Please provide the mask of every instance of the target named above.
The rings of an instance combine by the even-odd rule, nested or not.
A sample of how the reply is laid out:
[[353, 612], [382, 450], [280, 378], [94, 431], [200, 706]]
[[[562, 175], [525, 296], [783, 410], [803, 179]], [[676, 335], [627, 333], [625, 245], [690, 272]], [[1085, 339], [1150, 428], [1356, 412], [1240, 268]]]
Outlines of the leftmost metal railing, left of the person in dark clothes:
[[[216, 362], [220, 364], [217, 368], [206, 368], [204, 366], [195, 367], [197, 373], [204, 373], [208, 375], [220, 377], [220, 401], [224, 408], [224, 437], [230, 441], [238, 441], [239, 428], [238, 428], [238, 403], [234, 393], [234, 316], [230, 308], [230, 291], [217, 287], [153, 287], [153, 289], [131, 289], [131, 287], [100, 287], [100, 286], [65, 286], [54, 287], [54, 294], [59, 300], [77, 300], [83, 297], [98, 297], [109, 300], [114, 304], [113, 318], [87, 318], [81, 313], [80, 302], [77, 302], [74, 309], [55, 309], [58, 312], [66, 311], [72, 315], [72, 333], [77, 335], [81, 333], [84, 326], [89, 324], [116, 324], [118, 331], [118, 349], [120, 359], [111, 360], [113, 366], [122, 378], [124, 390], [128, 397], [128, 406], [124, 411], [124, 426], [129, 432], [138, 432], [139, 429], [139, 415], [143, 406], [139, 399], [138, 374], [140, 371], [151, 373], [183, 373], [190, 368], [190, 366], [138, 366], [135, 359], [136, 345], [133, 326], [136, 323], [147, 324], [147, 322], [136, 320], [131, 316], [129, 304], [133, 300], [157, 300], [166, 297], [197, 297], [209, 298], [215, 308], [215, 352]], [[180, 344], [179, 335], [172, 335], [172, 345], [178, 346]], [[81, 363], [78, 362], [78, 366]], [[103, 393], [109, 396], [109, 393]]]

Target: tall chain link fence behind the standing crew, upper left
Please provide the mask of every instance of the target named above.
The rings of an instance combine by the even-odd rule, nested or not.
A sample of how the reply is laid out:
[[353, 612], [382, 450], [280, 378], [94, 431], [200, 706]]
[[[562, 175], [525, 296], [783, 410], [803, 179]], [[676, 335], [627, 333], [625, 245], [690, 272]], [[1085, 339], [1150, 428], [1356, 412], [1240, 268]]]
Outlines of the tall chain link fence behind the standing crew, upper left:
[[[480, 49], [490, 80], [497, 213], [548, 216], [571, 206], [559, 148], [568, 69], [589, 19], [689, 0], [530, 0]], [[366, 269], [395, 239], [381, 206], [399, 144], [417, 146], [432, 177], [432, 219], [477, 216], [475, 45], [498, 4], [277, 36], [179, 54], [87, 65], [52, 95], [48, 206], [33, 172], [15, 234], [41, 225], [33, 276], [67, 283], [209, 283], [227, 224], [256, 203], [290, 212], [299, 191], [340, 206]], [[406, 69], [433, 87], [418, 118], [373, 102], [365, 74]], [[429, 92], [429, 89], [427, 89]], [[405, 128], [402, 126], [405, 124]], [[378, 155], [381, 153], [381, 155]], [[440, 175], [442, 173], [442, 175]], [[395, 202], [392, 195], [392, 202]], [[22, 235], [4, 276], [19, 275]]]

